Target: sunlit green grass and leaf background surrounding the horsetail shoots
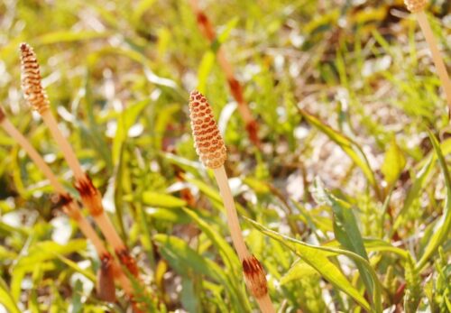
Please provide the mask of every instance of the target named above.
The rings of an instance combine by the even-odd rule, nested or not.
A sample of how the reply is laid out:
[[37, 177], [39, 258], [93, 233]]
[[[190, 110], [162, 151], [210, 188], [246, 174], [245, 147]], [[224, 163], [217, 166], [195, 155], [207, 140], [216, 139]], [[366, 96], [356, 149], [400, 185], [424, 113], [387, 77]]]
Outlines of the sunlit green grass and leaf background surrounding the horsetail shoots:
[[[27, 41], [51, 109], [161, 311], [256, 308], [216, 182], [193, 148], [195, 87], [225, 133], [246, 242], [281, 312], [449, 311], [446, 102], [402, 1], [201, 5], [220, 34], [212, 45], [185, 1], [0, 3], [1, 105], [77, 197], [23, 100], [18, 46]], [[428, 17], [449, 64], [449, 2], [430, 1]], [[258, 149], [217, 65], [219, 44], [258, 120]], [[97, 299], [96, 253], [4, 132], [0, 243], [0, 312], [129, 307]]]

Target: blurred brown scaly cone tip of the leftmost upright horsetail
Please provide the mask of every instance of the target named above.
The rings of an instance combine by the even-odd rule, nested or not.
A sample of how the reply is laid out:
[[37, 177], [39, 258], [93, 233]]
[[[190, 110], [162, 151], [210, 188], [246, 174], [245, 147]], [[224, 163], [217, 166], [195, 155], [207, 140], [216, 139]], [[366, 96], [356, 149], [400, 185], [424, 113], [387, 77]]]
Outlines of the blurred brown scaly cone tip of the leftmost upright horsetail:
[[41, 85], [41, 71], [36, 54], [28, 43], [21, 43], [20, 50], [23, 94], [32, 108], [42, 114], [49, 109], [50, 102]]

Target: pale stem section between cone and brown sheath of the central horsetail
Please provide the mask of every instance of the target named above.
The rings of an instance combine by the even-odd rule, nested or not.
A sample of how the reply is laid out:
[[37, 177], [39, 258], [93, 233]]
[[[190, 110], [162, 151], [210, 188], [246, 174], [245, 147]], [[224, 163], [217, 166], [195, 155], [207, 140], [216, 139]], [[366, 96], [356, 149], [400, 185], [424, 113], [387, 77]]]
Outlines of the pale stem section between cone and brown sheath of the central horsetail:
[[232, 191], [230, 190], [226, 169], [224, 165], [214, 169], [217, 185], [221, 192], [221, 196], [224, 201], [224, 207], [226, 208], [227, 214], [227, 224], [230, 229], [230, 235], [232, 236], [232, 242], [235, 245], [236, 253], [240, 261], [243, 262], [245, 259], [251, 256], [249, 250], [244, 244], [244, 238], [240, 227], [240, 222], [238, 220], [238, 215], [236, 214], [235, 201], [232, 196]]

